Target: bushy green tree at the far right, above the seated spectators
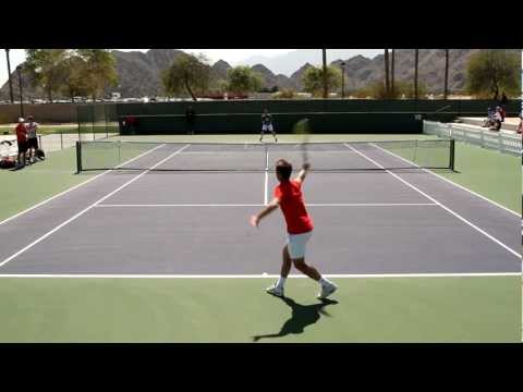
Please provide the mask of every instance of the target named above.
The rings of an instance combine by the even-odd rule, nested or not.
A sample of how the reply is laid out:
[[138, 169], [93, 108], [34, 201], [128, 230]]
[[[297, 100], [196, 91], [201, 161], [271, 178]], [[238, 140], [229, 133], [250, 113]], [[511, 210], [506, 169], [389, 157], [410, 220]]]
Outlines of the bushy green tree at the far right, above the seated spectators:
[[477, 97], [498, 99], [500, 91], [521, 94], [521, 54], [507, 50], [482, 50], [469, 59], [466, 89]]

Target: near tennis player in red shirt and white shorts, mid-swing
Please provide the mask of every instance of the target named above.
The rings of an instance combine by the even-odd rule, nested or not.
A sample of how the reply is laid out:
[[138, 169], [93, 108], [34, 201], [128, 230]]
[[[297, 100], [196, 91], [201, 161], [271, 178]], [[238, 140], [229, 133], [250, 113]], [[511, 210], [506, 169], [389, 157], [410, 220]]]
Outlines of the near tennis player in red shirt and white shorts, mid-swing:
[[314, 267], [305, 264], [305, 246], [311, 240], [314, 229], [313, 220], [305, 208], [302, 194], [302, 184], [308, 169], [309, 164], [304, 163], [297, 176], [291, 180], [292, 164], [284, 159], [278, 160], [276, 162], [276, 176], [280, 184], [275, 187], [275, 196], [264, 210], [251, 217], [251, 224], [258, 226], [262, 219], [280, 207], [285, 218], [288, 236], [287, 244], [283, 247], [280, 279], [267, 289], [269, 294], [279, 297], [283, 296], [283, 286], [292, 265], [320, 284], [318, 298], [326, 298], [338, 289], [335, 283], [323, 278]]

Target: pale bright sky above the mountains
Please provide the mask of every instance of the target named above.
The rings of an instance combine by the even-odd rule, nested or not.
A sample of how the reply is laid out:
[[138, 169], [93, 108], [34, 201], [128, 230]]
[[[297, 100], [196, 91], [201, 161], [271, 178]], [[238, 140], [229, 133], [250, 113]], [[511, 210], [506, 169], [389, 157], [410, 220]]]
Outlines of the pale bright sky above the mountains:
[[[119, 49], [122, 51], [147, 51], [148, 49]], [[206, 54], [210, 62], [214, 63], [218, 60], [224, 60], [231, 65], [240, 65], [243, 60], [247, 60], [253, 57], [275, 57], [278, 54], [283, 54], [295, 49], [181, 49], [187, 52], [196, 52]], [[352, 50], [351, 50], [352, 51]], [[376, 50], [374, 49], [353, 49], [354, 56], [363, 54], [370, 56]], [[11, 60], [11, 72], [14, 71], [16, 65], [24, 62], [25, 51], [24, 49], [11, 49], [9, 52]], [[8, 65], [5, 61], [5, 51], [1, 49], [0, 52], [0, 86], [2, 86], [8, 81]]]

